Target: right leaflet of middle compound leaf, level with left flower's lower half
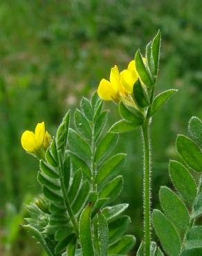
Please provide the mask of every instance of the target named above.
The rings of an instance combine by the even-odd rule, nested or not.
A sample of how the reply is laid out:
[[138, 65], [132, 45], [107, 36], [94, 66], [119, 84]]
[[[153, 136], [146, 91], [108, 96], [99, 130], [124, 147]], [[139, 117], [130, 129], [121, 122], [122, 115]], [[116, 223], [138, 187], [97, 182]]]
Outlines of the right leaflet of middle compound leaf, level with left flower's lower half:
[[95, 162], [101, 161], [105, 156], [108, 156], [111, 153], [114, 147], [116, 147], [118, 138], [118, 134], [107, 132], [95, 151]]

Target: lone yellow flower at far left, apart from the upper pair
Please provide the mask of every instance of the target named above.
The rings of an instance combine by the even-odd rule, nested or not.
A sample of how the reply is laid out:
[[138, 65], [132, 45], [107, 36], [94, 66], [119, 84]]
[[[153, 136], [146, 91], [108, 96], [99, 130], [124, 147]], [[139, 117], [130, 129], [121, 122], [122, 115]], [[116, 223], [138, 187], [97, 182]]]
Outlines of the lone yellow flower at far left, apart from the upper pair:
[[38, 123], [33, 131], [24, 131], [21, 136], [22, 147], [30, 153], [38, 152], [40, 149], [46, 149], [50, 145], [50, 134], [45, 130], [44, 122]]

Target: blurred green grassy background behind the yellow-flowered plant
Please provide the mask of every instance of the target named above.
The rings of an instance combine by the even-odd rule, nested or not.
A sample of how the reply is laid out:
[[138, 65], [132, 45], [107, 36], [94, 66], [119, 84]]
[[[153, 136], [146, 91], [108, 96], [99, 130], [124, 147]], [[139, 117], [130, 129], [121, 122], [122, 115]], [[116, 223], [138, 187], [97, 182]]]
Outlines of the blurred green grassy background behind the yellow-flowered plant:
[[[152, 123], [154, 207], [169, 183], [176, 134], [191, 116], [202, 117], [202, 1], [1, 0], [0, 2], [0, 255], [39, 256], [40, 246], [19, 227], [23, 203], [33, 199], [37, 161], [20, 145], [37, 122], [55, 133], [62, 116], [96, 90], [111, 66], [120, 69], [160, 28], [163, 42], [157, 91], [178, 89]], [[111, 122], [118, 120], [113, 103]], [[127, 152], [119, 201], [129, 203], [129, 232], [142, 232], [143, 154], [140, 131], [121, 136]], [[135, 250], [134, 250], [135, 251]], [[134, 254], [133, 254], [134, 255]]]

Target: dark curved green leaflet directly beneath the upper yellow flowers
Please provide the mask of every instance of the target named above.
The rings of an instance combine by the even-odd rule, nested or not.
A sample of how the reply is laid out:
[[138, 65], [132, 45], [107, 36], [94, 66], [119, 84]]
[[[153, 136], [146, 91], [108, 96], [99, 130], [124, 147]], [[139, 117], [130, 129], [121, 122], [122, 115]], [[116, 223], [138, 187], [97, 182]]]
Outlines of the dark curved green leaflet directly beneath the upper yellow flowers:
[[131, 124], [136, 125], [143, 123], [143, 118], [140, 118], [140, 116], [136, 116], [135, 113], [132, 113], [122, 102], [119, 104], [119, 112], [120, 116]]

